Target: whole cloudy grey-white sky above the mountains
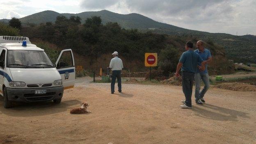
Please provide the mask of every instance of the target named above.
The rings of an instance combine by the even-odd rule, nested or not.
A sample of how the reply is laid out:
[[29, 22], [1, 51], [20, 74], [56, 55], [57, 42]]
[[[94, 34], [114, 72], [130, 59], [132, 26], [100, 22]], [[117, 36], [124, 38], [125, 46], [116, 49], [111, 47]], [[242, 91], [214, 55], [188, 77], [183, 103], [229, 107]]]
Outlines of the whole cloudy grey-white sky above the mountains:
[[256, 35], [256, 0], [1, 0], [0, 19], [44, 10], [138, 13], [191, 30]]

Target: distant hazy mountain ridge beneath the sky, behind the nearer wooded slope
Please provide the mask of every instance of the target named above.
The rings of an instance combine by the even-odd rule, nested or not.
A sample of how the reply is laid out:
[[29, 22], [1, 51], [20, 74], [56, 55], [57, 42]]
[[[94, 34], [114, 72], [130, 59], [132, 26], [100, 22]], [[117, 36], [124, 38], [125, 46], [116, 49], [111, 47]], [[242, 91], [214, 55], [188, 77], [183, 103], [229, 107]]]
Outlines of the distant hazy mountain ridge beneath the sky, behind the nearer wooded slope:
[[[30, 16], [20, 18], [23, 25], [39, 25], [40, 23], [55, 23], [57, 16], [79, 16], [81, 22], [85, 23], [87, 18], [91, 16], [100, 16], [102, 24], [109, 22], [118, 23], [121, 28], [137, 29], [140, 32], [154, 32], [158, 34], [168, 34], [183, 37], [196, 37], [204, 41], [214, 42], [222, 46], [226, 50], [227, 57], [235, 62], [255, 62], [256, 61], [256, 36], [234, 36], [224, 33], [209, 33], [196, 30], [188, 30], [174, 25], [159, 23], [142, 16], [140, 14], [117, 14], [111, 11], [86, 11], [79, 14], [59, 14], [55, 11], [42, 11]], [[9, 20], [2, 19], [0, 22], [8, 23]]]

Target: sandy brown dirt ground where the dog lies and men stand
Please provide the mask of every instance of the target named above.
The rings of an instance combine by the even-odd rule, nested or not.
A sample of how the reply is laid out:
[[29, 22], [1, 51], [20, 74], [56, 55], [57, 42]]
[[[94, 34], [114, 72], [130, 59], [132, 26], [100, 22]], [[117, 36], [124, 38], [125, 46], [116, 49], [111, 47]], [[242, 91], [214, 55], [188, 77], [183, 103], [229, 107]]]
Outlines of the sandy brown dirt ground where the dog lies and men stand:
[[[87, 83], [66, 90], [62, 103], [0, 99], [0, 144], [255, 144], [256, 92], [211, 88], [203, 106], [181, 109], [180, 86]], [[193, 98], [194, 99], [194, 98]], [[69, 114], [82, 102], [90, 114]], [[194, 102], [194, 101], [193, 101]]]

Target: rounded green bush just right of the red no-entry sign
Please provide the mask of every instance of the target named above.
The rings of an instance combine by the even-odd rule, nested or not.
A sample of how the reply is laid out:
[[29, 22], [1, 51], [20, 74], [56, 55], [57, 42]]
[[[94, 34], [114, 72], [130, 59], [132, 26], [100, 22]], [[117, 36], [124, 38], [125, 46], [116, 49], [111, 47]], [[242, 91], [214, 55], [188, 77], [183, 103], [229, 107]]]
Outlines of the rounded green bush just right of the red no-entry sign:
[[165, 49], [162, 49], [159, 55], [159, 66], [163, 71], [163, 75], [169, 76], [170, 72], [176, 70], [176, 66], [179, 60], [179, 51], [174, 46], [167, 45]]

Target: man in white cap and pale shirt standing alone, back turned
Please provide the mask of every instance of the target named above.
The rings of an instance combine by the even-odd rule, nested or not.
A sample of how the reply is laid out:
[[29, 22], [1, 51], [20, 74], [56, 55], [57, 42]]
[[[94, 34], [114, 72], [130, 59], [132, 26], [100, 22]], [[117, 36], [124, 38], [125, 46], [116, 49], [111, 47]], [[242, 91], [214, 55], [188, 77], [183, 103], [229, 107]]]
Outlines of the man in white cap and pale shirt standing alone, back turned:
[[118, 91], [122, 92], [122, 86], [121, 86], [121, 70], [123, 69], [123, 62], [118, 57], [118, 53], [114, 52], [112, 53], [113, 57], [110, 61], [110, 68], [112, 69], [112, 81], [111, 81], [111, 94], [114, 94], [114, 85], [116, 82], [118, 82]]

